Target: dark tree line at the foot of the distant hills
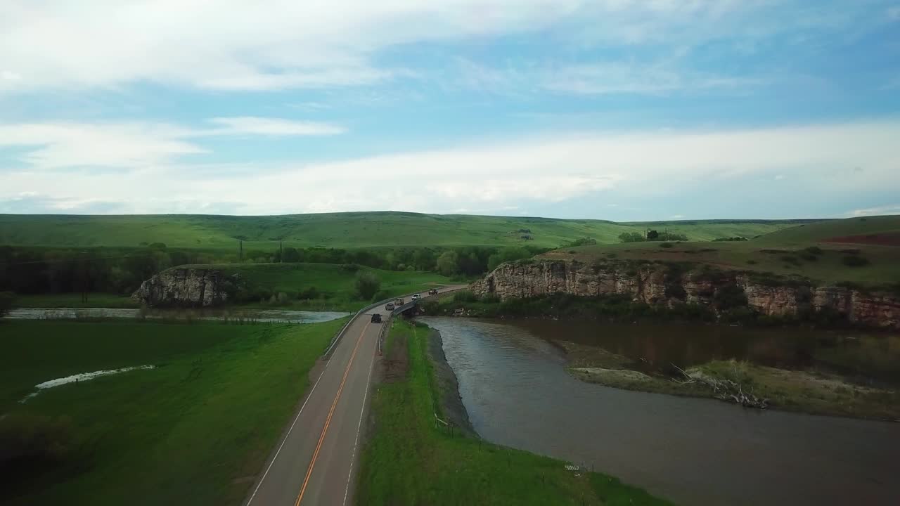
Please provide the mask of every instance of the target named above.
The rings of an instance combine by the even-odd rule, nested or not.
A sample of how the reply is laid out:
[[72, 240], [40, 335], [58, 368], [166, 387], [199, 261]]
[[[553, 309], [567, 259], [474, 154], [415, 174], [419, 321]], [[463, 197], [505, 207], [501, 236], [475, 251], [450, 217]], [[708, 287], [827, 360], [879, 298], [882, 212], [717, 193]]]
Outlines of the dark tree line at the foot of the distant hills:
[[308, 262], [387, 270], [433, 271], [444, 276], [479, 276], [503, 262], [531, 258], [548, 248], [273, 248], [237, 252], [166, 248], [21, 248], [0, 246], [0, 292], [130, 294], [165, 270], [191, 264]]

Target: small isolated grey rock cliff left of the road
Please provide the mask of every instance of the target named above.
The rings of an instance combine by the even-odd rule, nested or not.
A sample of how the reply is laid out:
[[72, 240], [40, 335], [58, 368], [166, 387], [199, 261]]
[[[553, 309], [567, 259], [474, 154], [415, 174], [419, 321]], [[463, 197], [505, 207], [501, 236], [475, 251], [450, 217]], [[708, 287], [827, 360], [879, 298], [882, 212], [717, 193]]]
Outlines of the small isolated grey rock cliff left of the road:
[[140, 284], [131, 298], [148, 306], [207, 307], [225, 303], [239, 279], [214, 269], [171, 268]]

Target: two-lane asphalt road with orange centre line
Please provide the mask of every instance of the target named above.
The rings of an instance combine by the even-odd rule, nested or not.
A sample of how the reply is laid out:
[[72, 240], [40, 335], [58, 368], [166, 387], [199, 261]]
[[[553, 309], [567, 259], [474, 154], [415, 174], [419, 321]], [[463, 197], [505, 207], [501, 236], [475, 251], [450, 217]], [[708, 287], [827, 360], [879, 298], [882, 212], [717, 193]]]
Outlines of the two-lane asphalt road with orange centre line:
[[390, 313], [380, 306], [347, 327], [254, 483], [247, 506], [353, 503], [360, 431], [383, 325], [371, 322], [374, 312], [383, 321]]

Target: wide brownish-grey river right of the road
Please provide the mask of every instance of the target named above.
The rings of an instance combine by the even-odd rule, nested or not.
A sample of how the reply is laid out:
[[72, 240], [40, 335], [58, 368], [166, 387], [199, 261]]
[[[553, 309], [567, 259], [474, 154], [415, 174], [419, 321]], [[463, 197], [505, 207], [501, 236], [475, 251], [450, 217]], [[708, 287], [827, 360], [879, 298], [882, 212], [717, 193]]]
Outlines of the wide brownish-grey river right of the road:
[[898, 423], [583, 383], [542, 336], [583, 340], [597, 328], [580, 338], [560, 322], [420, 320], [441, 332], [473, 427], [493, 442], [593, 466], [682, 505], [900, 504]]

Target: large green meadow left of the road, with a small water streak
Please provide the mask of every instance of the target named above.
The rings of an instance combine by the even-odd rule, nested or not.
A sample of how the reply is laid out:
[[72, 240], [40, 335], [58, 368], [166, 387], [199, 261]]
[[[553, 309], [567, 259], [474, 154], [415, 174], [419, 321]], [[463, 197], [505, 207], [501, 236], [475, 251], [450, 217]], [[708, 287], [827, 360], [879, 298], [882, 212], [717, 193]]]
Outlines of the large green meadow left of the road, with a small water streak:
[[[0, 322], [0, 437], [32, 456], [0, 462], [0, 501], [239, 504], [344, 322]], [[157, 368], [18, 402], [49, 379], [142, 365]]]

